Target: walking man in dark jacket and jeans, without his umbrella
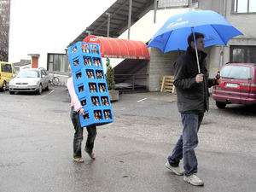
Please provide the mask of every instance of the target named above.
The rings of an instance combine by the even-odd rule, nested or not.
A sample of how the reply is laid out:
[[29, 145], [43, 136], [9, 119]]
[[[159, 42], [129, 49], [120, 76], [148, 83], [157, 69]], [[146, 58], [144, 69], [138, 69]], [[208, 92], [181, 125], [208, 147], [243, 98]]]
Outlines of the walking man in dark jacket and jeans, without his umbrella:
[[[195, 40], [194, 40], [195, 39]], [[219, 79], [208, 79], [204, 49], [204, 35], [191, 33], [188, 38], [189, 47], [175, 63], [174, 85], [177, 89], [177, 108], [181, 113], [183, 133], [179, 137], [172, 154], [168, 157], [166, 167], [177, 175], [184, 174], [184, 181], [193, 185], [203, 185], [203, 181], [195, 175], [197, 160], [195, 147], [198, 144], [197, 132], [204, 113], [209, 108], [208, 88], [219, 84]], [[197, 52], [195, 49], [197, 48]], [[197, 56], [201, 73], [198, 72]], [[183, 159], [184, 172], [179, 161]]]

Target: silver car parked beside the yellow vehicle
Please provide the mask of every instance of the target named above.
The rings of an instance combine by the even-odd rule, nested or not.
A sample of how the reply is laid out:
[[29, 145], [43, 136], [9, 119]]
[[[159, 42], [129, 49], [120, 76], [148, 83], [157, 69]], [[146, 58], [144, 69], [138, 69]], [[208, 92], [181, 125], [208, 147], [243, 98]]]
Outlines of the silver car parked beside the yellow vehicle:
[[49, 74], [44, 68], [26, 68], [9, 82], [9, 94], [21, 91], [33, 91], [42, 94], [49, 90]]

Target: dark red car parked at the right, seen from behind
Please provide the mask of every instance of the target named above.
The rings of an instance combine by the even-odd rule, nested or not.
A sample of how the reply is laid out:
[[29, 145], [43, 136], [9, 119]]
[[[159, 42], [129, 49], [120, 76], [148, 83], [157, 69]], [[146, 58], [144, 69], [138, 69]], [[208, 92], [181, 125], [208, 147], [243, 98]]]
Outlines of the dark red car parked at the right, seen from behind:
[[256, 103], [256, 64], [229, 63], [220, 71], [221, 83], [214, 86], [212, 97], [218, 108], [226, 104]]

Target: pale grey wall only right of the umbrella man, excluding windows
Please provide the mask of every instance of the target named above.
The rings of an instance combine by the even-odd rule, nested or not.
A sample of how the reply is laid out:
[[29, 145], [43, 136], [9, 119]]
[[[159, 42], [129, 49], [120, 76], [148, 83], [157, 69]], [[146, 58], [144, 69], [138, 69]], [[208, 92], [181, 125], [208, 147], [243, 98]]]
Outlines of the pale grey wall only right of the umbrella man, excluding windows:
[[[230, 61], [230, 45], [256, 45], [256, 15], [236, 14], [233, 11], [232, 3], [234, 0], [212, 0], [199, 1], [199, 9], [212, 9], [217, 11], [244, 35], [233, 38], [226, 46], [212, 47], [210, 52], [211, 60], [209, 61], [210, 76], [213, 76], [216, 70]], [[251, 0], [253, 1], [253, 0]]]

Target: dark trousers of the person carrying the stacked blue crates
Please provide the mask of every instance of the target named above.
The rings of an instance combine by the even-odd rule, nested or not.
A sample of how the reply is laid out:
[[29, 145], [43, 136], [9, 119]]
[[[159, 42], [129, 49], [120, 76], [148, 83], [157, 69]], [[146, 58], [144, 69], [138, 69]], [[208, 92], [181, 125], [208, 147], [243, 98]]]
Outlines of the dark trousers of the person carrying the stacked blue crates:
[[[83, 137], [84, 128], [81, 127], [80, 125], [79, 113], [74, 111], [73, 107], [71, 108], [70, 118], [72, 120], [73, 128], [75, 130], [75, 133], [73, 135], [73, 157], [79, 158], [79, 157], [82, 157], [81, 145], [84, 138]], [[86, 141], [84, 150], [87, 153], [91, 153], [94, 146], [94, 141], [96, 139], [96, 134], [97, 134], [96, 126], [95, 125], [86, 126], [86, 130], [88, 132], [88, 135], [87, 135], [87, 141]]]

